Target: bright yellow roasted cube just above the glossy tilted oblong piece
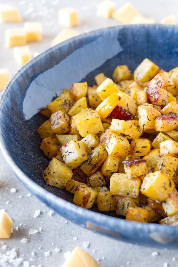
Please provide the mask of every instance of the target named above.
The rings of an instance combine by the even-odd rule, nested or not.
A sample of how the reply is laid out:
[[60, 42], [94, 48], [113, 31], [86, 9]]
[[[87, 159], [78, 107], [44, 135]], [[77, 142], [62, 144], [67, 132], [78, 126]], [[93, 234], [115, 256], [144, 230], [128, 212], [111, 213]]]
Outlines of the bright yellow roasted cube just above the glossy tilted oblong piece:
[[96, 91], [101, 99], [104, 100], [111, 94], [118, 93], [119, 89], [111, 79], [107, 78], [101, 83], [101, 85], [98, 86]]

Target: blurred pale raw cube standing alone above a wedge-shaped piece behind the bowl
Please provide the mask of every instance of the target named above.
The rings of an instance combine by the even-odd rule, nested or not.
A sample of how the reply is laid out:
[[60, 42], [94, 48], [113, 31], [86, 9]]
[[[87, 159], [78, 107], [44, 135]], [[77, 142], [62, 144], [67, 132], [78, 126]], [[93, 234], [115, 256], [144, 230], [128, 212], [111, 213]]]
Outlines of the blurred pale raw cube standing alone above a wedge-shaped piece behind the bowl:
[[59, 24], [64, 27], [74, 27], [79, 24], [78, 12], [72, 7], [59, 10]]

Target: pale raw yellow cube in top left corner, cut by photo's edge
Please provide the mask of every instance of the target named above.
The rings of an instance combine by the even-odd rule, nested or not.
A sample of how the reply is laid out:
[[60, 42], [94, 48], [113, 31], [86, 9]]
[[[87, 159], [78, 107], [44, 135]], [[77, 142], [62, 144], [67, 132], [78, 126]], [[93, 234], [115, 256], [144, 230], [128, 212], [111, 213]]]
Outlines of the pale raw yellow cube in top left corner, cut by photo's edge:
[[0, 5], [0, 22], [20, 22], [21, 16], [17, 8], [8, 4]]

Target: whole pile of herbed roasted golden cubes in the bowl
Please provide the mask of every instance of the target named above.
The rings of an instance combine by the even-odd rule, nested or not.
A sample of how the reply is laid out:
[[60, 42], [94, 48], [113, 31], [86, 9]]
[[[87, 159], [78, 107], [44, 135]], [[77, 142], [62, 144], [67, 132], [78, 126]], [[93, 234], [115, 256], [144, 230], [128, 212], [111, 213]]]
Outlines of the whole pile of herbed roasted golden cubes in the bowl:
[[165, 72], [145, 58], [112, 78], [74, 83], [40, 111], [43, 177], [83, 208], [178, 225], [178, 67]]

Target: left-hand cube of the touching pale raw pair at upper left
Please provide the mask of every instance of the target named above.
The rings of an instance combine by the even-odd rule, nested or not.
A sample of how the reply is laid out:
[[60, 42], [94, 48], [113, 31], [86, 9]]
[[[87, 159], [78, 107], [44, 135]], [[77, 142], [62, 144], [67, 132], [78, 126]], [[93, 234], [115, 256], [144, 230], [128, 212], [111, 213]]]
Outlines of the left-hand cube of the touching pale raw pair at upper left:
[[26, 34], [23, 28], [6, 30], [6, 47], [20, 46], [26, 44]]

